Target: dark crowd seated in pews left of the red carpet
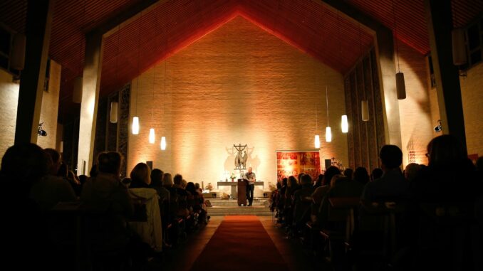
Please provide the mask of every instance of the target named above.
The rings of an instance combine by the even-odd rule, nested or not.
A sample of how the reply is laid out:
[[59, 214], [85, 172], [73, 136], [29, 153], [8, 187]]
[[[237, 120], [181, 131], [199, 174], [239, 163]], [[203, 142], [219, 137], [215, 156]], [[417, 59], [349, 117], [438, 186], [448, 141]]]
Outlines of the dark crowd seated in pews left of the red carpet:
[[122, 160], [101, 153], [90, 176], [76, 176], [54, 149], [10, 147], [0, 171], [9, 221], [2, 262], [19, 270], [142, 270], [208, 223], [198, 184], [144, 163], [121, 180]]

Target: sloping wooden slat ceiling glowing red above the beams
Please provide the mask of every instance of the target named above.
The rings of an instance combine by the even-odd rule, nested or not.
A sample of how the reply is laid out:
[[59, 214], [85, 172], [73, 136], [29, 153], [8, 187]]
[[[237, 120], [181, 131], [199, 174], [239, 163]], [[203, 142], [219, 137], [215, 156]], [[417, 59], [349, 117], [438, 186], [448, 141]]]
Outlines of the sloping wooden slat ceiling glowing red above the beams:
[[[61, 104], [71, 100], [73, 78], [82, 74], [85, 33], [140, 1], [55, 1], [49, 55], [62, 65]], [[416, 51], [430, 51], [423, 0], [343, 1]], [[26, 7], [26, 0], [1, 1], [0, 21], [23, 33]], [[452, 10], [454, 26], [464, 26], [483, 11], [483, 1], [452, 0]], [[319, 0], [161, 0], [105, 38], [101, 95], [238, 15], [341, 73], [373, 45], [371, 33]]]

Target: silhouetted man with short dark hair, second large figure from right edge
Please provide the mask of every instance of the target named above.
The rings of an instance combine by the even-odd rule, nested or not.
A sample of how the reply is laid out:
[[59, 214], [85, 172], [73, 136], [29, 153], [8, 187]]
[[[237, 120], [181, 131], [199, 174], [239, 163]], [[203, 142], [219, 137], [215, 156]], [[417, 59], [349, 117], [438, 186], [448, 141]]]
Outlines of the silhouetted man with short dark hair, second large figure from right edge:
[[408, 182], [402, 175], [402, 152], [398, 146], [385, 145], [379, 153], [383, 176], [365, 185], [363, 201], [386, 201], [405, 199]]

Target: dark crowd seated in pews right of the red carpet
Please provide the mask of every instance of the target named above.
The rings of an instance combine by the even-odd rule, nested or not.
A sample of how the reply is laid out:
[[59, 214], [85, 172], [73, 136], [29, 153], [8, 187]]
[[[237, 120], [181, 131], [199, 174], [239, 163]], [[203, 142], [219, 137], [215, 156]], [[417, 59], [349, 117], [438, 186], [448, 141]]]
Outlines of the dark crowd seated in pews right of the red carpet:
[[482, 270], [483, 159], [474, 166], [451, 135], [427, 158], [402, 171], [401, 150], [385, 145], [371, 175], [290, 176], [271, 195], [275, 223], [336, 270]]

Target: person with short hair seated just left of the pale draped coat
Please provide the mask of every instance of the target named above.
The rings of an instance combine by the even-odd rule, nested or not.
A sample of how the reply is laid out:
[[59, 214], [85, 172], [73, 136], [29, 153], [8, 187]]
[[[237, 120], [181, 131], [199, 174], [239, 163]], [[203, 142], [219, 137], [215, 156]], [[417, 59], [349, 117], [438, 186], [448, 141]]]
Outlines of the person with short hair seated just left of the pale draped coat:
[[98, 175], [83, 186], [81, 201], [88, 214], [85, 232], [95, 268], [113, 270], [126, 265], [131, 239], [128, 218], [133, 214], [126, 188], [120, 182], [122, 156], [103, 152], [98, 156]]

